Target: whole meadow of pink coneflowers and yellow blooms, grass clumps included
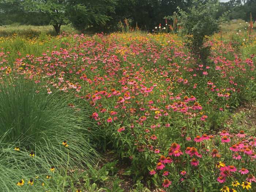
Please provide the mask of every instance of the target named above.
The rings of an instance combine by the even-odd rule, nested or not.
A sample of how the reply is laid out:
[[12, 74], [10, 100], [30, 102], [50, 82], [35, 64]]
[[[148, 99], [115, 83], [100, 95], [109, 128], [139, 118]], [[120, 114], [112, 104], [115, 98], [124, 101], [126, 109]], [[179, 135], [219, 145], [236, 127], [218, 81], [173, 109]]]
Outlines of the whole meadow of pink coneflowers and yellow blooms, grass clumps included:
[[256, 191], [255, 122], [241, 124], [256, 114], [245, 26], [223, 24], [204, 61], [168, 23], [1, 37], [0, 191], [121, 192], [128, 179], [129, 191]]

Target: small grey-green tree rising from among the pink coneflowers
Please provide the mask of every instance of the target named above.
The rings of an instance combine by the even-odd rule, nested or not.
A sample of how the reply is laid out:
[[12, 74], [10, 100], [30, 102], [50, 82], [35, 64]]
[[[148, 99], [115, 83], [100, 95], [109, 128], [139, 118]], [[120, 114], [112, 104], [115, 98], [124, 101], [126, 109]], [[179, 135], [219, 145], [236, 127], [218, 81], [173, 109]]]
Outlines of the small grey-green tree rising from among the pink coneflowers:
[[188, 36], [188, 45], [192, 53], [205, 61], [210, 54], [210, 47], [204, 42], [219, 29], [219, 21], [215, 19], [218, 11], [218, 0], [194, 0], [188, 11], [179, 10], [179, 25]]

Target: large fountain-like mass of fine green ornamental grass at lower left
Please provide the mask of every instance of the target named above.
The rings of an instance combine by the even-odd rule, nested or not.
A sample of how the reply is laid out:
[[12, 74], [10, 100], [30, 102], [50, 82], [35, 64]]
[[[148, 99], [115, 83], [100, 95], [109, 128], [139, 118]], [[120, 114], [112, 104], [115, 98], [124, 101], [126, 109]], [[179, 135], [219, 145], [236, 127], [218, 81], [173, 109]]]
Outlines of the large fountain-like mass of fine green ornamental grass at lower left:
[[[66, 191], [79, 182], [72, 170], [95, 166], [98, 153], [90, 143], [99, 131], [88, 119], [90, 109], [69, 108], [71, 95], [45, 94], [41, 83], [23, 78], [3, 79], [0, 90], [0, 191]], [[16, 185], [21, 179], [25, 186]]]

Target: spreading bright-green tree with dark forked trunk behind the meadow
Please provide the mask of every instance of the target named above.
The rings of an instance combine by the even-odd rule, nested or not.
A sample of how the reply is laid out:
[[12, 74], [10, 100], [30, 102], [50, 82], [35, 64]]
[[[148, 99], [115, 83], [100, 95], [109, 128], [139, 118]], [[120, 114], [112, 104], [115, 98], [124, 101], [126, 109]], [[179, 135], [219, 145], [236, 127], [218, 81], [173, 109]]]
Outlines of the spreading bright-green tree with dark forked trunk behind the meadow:
[[22, 0], [25, 11], [48, 16], [57, 34], [61, 25], [73, 22], [76, 27], [110, 19], [107, 11], [114, 11], [116, 0]]

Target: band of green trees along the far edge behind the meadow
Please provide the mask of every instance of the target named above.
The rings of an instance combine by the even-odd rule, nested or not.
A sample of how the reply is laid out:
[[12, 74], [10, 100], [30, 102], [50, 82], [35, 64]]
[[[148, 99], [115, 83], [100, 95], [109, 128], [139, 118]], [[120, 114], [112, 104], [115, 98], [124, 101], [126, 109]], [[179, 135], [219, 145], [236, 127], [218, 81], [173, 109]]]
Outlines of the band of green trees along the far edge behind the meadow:
[[[230, 11], [227, 19], [256, 18], [256, 0], [230, 0], [219, 3], [215, 18]], [[177, 12], [177, 7], [188, 11], [194, 0], [0, 0], [0, 25], [53, 25], [57, 33], [61, 25], [71, 23], [84, 31], [117, 31], [118, 23], [127, 18], [129, 25], [152, 31], [159, 23], [165, 24], [165, 16]], [[170, 21], [172, 22], [172, 21]], [[93, 26], [93, 27], [91, 27]]]

